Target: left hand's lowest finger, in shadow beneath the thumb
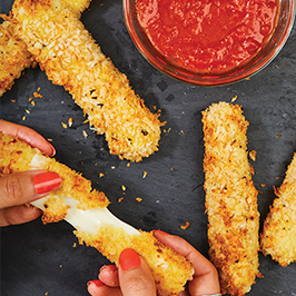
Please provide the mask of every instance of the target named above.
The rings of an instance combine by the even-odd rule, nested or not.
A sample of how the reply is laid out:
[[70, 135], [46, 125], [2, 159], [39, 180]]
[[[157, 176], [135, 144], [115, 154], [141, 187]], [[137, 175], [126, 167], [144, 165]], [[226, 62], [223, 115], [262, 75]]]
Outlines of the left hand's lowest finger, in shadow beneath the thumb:
[[0, 209], [0, 227], [28, 223], [41, 214], [42, 210], [26, 205]]

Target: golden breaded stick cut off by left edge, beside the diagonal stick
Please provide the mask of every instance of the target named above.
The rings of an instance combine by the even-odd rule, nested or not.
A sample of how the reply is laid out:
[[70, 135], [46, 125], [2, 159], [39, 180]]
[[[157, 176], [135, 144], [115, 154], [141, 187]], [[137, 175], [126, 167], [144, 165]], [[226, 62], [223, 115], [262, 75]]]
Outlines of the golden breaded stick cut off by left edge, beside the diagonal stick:
[[0, 24], [0, 97], [11, 89], [14, 79], [33, 63], [33, 57], [27, 50], [26, 43], [14, 33], [11, 17], [1, 17], [4, 21]]

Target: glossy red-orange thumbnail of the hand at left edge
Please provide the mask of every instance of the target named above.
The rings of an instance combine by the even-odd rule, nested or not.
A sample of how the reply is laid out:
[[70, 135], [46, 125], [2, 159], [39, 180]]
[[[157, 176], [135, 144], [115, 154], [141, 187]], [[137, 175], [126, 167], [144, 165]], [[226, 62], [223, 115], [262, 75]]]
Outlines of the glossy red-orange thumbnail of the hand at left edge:
[[60, 186], [60, 176], [55, 171], [38, 174], [33, 177], [34, 189], [37, 194], [47, 194]]

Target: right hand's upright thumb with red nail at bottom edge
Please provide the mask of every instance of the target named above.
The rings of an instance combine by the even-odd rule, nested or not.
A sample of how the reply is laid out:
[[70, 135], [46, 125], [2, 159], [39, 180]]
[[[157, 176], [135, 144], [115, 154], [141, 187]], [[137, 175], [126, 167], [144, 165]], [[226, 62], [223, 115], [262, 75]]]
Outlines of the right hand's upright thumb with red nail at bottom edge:
[[152, 274], [136, 250], [127, 248], [121, 251], [118, 272], [124, 296], [156, 296]]

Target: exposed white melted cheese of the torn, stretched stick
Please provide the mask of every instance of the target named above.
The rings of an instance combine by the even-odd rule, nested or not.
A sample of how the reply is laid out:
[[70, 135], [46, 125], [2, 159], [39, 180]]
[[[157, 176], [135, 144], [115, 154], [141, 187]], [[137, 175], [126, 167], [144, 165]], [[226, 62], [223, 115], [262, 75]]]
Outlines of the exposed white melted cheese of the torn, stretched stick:
[[[45, 161], [47, 161], [46, 157], [39, 154], [34, 155], [30, 167], [33, 169], [42, 168]], [[51, 197], [55, 197], [55, 195], [50, 194], [43, 198], [32, 201], [31, 204], [34, 207], [45, 210], [45, 204]], [[71, 196], [65, 196], [62, 197], [62, 199], [65, 204], [69, 206], [67, 210], [67, 216], [63, 219], [71, 224], [79, 231], [96, 234], [98, 228], [100, 228], [103, 224], [107, 224], [122, 228], [128, 235], [140, 234], [137, 229], [114, 216], [106, 207], [82, 210], [77, 208], [78, 200], [76, 198]]]

